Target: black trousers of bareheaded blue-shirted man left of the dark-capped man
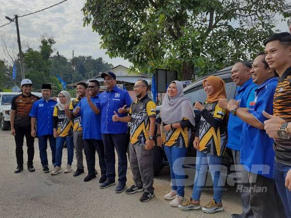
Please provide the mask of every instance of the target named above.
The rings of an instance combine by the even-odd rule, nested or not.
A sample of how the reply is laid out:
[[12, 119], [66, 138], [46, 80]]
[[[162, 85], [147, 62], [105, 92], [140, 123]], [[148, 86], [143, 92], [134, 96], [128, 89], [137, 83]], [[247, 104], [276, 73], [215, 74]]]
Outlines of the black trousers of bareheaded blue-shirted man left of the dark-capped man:
[[104, 145], [102, 140], [87, 139], [83, 140], [84, 152], [86, 156], [88, 174], [95, 174], [95, 152], [97, 151], [99, 158], [99, 167], [101, 175], [106, 175], [106, 165], [104, 160]]

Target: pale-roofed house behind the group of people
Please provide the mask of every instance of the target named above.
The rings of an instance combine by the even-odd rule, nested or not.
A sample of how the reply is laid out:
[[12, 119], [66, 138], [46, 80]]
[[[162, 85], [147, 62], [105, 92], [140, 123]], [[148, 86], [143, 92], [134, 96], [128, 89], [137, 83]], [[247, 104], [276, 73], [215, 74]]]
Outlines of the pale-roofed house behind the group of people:
[[[129, 92], [129, 95], [131, 96], [132, 99], [136, 99], [135, 94], [133, 92], [133, 86], [134, 86], [134, 83], [138, 79], [144, 79], [148, 82], [148, 84], [149, 84], [148, 92], [150, 92], [152, 78], [150, 78], [146, 75], [137, 73], [137, 72], [130, 71], [128, 67], [123, 66], [123, 65], [115, 66], [109, 71], [113, 72], [116, 75], [116, 80], [117, 80], [116, 85], [121, 89], [125, 87], [127, 89], [127, 91]], [[106, 72], [108, 72], [108, 71], [106, 71]], [[102, 72], [102, 73], [106, 73], [106, 72]], [[103, 78], [101, 78], [101, 73], [93, 78], [74, 82], [72, 84], [68, 84], [67, 86], [68, 87], [72, 87], [72, 86], [76, 87], [79, 82], [88, 83], [89, 80], [91, 80], [91, 79], [96, 79], [100, 82], [100, 91], [101, 92], [106, 90], [104, 83], [103, 83]]]

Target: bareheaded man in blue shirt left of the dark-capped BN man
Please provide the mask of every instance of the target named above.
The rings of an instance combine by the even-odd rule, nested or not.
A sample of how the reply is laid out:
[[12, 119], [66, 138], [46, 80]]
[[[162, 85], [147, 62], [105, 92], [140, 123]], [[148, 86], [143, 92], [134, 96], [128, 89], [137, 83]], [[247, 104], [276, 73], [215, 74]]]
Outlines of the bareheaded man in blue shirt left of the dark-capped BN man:
[[77, 107], [73, 110], [76, 116], [81, 112], [81, 124], [83, 128], [83, 144], [84, 152], [87, 161], [88, 175], [84, 178], [84, 182], [88, 182], [96, 178], [95, 171], [95, 153], [97, 151], [99, 158], [99, 167], [101, 170], [101, 178], [99, 183], [106, 180], [106, 164], [104, 160], [104, 145], [101, 137], [100, 111], [96, 105], [99, 104], [99, 89], [100, 84], [97, 80], [90, 80], [88, 85], [89, 92], [86, 98], [82, 98]]

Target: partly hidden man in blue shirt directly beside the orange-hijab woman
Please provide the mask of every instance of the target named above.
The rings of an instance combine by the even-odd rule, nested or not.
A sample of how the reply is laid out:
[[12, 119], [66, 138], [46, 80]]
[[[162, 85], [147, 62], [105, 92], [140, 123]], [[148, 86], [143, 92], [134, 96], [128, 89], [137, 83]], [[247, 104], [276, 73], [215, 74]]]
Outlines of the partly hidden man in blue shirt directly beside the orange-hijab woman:
[[[257, 85], [253, 83], [251, 78], [251, 68], [251, 63], [242, 61], [235, 63], [231, 69], [231, 78], [238, 86], [235, 100], [240, 102], [239, 106], [241, 108], [248, 108], [249, 103], [255, 99]], [[227, 109], [227, 103], [227, 99], [221, 99], [218, 102], [219, 106], [223, 109]], [[229, 114], [226, 147], [231, 150], [238, 182], [242, 179], [242, 169], [240, 169], [242, 124], [243, 121], [239, 117], [233, 116], [231, 113]], [[249, 198], [248, 192], [241, 193], [242, 214], [232, 214], [233, 218], [241, 218], [252, 214]]]

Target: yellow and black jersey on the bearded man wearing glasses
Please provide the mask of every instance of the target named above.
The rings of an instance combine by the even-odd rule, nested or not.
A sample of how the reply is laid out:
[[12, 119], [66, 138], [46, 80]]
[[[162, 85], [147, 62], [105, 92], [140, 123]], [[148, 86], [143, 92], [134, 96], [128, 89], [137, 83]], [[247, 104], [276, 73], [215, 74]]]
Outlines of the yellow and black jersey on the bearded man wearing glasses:
[[149, 134], [149, 118], [156, 116], [156, 104], [146, 95], [131, 103], [130, 143], [145, 145]]

